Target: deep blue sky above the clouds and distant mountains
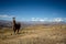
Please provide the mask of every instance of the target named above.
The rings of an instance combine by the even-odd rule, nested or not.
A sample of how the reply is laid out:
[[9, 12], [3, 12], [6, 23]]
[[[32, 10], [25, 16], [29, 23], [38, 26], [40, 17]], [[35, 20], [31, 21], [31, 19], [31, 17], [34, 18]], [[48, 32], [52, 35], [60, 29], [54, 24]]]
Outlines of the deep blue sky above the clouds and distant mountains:
[[19, 21], [66, 18], [66, 0], [0, 0], [0, 19]]

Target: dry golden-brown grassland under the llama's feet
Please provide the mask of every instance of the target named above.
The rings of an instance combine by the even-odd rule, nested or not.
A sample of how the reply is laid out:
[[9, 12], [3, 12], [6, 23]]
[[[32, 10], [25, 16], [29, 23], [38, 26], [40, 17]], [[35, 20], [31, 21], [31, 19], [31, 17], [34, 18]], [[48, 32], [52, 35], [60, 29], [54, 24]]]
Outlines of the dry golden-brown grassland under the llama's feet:
[[12, 29], [0, 29], [0, 44], [66, 44], [66, 24], [32, 25], [13, 34]]

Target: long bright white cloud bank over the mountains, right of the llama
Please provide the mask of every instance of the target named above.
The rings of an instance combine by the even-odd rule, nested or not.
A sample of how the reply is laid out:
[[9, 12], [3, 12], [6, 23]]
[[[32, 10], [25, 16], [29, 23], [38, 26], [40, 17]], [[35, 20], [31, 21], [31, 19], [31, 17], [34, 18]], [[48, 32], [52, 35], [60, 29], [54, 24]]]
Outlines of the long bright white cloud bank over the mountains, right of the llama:
[[44, 22], [44, 21], [47, 21], [47, 22], [61, 22], [61, 21], [65, 21], [66, 18], [53, 18], [53, 19], [50, 19], [50, 18], [44, 18], [44, 19], [41, 19], [41, 18], [32, 18], [32, 21], [41, 21], [41, 22]]

